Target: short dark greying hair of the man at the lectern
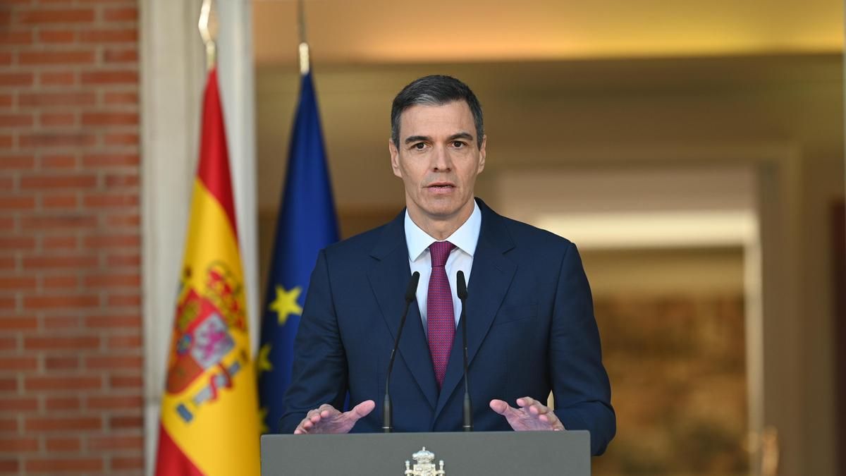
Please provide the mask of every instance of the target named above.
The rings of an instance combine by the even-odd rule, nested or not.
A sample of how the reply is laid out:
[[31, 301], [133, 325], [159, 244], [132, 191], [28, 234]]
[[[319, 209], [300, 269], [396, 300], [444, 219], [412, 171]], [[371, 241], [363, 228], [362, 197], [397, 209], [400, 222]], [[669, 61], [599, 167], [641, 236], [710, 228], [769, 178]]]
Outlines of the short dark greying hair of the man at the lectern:
[[442, 106], [448, 102], [464, 101], [473, 114], [476, 126], [476, 146], [481, 147], [481, 140], [485, 136], [485, 121], [481, 113], [481, 104], [476, 99], [470, 86], [452, 76], [430, 75], [411, 81], [397, 97], [393, 98], [391, 106], [391, 141], [399, 148], [399, 116], [405, 109], [422, 104], [425, 106]]

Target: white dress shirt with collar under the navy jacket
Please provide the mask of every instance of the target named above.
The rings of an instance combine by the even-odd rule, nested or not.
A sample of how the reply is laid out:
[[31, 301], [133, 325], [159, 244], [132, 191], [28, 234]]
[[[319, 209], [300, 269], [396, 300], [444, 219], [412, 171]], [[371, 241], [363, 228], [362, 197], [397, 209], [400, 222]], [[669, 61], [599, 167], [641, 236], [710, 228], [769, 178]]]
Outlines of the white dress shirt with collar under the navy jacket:
[[[470, 218], [462, 224], [458, 230], [449, 235], [446, 240], [455, 247], [447, 258], [447, 279], [449, 280], [449, 291], [453, 293], [453, 312], [455, 313], [455, 325], [459, 324], [461, 318], [461, 301], [456, 294], [456, 274], [459, 270], [464, 271], [464, 280], [470, 285], [470, 269], [473, 268], [473, 254], [476, 244], [479, 242], [481, 231], [481, 211], [479, 205], [473, 201], [473, 213]], [[420, 227], [409, 217], [408, 210], [405, 211], [405, 244], [409, 247], [409, 265], [411, 274], [415, 271], [420, 273], [420, 284], [417, 285], [417, 306], [420, 307], [420, 319], [423, 321], [423, 330], [428, 335], [426, 327], [426, 297], [429, 296], [429, 277], [431, 276], [431, 254], [429, 246], [437, 241], [420, 230]]]

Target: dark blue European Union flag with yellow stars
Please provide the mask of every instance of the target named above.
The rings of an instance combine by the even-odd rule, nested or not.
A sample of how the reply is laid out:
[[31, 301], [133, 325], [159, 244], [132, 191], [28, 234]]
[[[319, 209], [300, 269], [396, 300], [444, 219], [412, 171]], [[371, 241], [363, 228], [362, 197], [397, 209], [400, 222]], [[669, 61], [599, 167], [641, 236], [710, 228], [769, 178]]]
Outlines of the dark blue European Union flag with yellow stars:
[[301, 77], [282, 208], [268, 274], [256, 359], [262, 433], [278, 431], [291, 381], [294, 335], [317, 253], [338, 241], [338, 220], [311, 73]]

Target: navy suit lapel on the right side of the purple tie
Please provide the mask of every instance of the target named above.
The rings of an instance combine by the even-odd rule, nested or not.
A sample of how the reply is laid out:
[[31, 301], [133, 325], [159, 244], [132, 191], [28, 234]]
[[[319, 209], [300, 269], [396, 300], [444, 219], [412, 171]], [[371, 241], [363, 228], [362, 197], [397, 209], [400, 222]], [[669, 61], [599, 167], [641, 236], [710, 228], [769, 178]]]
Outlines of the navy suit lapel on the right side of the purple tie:
[[[481, 232], [479, 244], [473, 256], [473, 268], [467, 289], [468, 366], [473, 363], [482, 340], [491, 328], [493, 318], [497, 315], [497, 310], [517, 270], [517, 265], [504, 256], [505, 252], [514, 247], [514, 242], [511, 241], [503, 218], [488, 208], [485, 202], [481, 200], [478, 202], [482, 212]], [[462, 326], [459, 322], [453, 340], [453, 349], [449, 354], [447, 373], [443, 377], [441, 392], [437, 399], [435, 418], [446, 405], [455, 387], [464, 378], [462, 335]]]

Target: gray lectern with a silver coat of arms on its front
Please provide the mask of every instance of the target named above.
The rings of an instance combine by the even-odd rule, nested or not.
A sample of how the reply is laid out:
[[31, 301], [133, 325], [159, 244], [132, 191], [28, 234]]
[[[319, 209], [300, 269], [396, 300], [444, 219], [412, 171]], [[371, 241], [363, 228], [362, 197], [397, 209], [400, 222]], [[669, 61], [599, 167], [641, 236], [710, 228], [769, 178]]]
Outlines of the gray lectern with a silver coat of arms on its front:
[[310, 474], [590, 476], [591, 436], [587, 431], [503, 431], [261, 437], [261, 476]]

